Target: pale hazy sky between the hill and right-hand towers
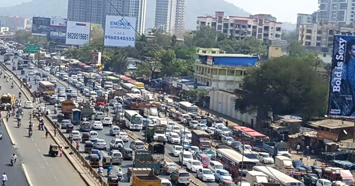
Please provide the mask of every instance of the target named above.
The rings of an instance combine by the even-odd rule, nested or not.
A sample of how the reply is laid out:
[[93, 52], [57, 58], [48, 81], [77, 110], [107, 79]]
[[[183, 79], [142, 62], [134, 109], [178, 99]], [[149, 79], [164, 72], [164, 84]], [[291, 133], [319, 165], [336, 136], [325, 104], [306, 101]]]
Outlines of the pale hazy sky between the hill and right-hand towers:
[[225, 0], [251, 14], [271, 14], [278, 21], [296, 23], [297, 14], [312, 14], [318, 0]]

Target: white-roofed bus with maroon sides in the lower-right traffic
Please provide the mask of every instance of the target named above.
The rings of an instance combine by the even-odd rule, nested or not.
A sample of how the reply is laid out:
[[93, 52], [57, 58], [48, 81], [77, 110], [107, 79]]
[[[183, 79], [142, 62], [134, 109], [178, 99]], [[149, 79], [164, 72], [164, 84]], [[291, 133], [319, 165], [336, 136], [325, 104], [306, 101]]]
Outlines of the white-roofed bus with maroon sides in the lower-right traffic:
[[253, 166], [256, 165], [253, 160], [235, 152], [233, 149], [217, 149], [216, 161], [222, 163], [233, 178], [237, 178], [241, 171], [244, 172], [242, 175], [245, 176], [246, 171], [252, 170]]

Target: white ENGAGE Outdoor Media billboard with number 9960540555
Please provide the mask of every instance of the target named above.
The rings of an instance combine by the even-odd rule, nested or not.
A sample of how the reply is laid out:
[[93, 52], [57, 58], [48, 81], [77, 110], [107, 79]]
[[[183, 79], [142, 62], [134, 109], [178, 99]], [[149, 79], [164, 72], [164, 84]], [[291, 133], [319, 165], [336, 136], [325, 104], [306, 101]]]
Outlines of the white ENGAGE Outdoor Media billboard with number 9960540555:
[[104, 46], [135, 47], [136, 17], [106, 16]]

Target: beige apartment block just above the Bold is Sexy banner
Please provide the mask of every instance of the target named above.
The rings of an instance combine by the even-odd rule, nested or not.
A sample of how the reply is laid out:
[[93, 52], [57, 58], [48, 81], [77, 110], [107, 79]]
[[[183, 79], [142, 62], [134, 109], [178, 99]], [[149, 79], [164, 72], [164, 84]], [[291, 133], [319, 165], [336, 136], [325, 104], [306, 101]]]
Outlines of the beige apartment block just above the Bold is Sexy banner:
[[334, 34], [352, 34], [355, 32], [353, 26], [308, 24], [300, 25], [298, 41], [304, 46], [332, 47]]

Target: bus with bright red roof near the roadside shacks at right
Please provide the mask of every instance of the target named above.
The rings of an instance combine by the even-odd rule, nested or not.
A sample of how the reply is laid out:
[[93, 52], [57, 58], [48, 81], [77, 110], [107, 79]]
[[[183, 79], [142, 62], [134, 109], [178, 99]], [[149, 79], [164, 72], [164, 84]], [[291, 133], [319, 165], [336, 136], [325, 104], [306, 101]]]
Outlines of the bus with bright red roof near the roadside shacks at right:
[[255, 131], [248, 127], [235, 126], [233, 127], [233, 138], [242, 143], [251, 145], [252, 147], [262, 147], [264, 142], [269, 142], [270, 139], [266, 135]]

